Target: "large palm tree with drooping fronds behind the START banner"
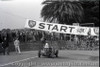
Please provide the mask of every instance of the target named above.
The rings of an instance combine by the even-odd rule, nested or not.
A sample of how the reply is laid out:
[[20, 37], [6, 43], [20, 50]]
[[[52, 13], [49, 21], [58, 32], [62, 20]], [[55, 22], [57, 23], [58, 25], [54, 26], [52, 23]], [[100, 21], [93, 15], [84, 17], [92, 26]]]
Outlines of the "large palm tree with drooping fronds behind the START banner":
[[[42, 3], [45, 4], [45, 1]], [[77, 1], [53, 1], [44, 5], [41, 11], [44, 21], [60, 24], [80, 23], [83, 8]]]

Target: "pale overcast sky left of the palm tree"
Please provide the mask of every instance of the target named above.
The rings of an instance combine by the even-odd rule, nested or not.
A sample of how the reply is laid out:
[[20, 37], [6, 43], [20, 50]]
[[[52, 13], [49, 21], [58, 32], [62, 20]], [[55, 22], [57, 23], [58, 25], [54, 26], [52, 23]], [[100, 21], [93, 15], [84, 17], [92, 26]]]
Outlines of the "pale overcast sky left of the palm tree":
[[43, 0], [0, 0], [0, 30], [24, 28], [26, 19], [41, 21]]

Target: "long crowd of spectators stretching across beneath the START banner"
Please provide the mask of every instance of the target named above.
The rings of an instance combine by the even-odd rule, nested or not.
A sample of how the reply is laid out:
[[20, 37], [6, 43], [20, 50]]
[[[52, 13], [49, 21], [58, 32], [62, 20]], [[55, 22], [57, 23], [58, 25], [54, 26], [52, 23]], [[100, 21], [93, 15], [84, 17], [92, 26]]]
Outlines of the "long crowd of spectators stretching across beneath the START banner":
[[[7, 37], [9, 42], [14, 42], [16, 38], [19, 39], [21, 43], [25, 42], [37, 42], [43, 40], [49, 41], [70, 41], [75, 42], [74, 46], [70, 49], [78, 49], [78, 48], [88, 48], [88, 49], [95, 49], [99, 48], [99, 37], [97, 36], [76, 36], [76, 35], [65, 35], [65, 34], [58, 34], [58, 33], [49, 33], [37, 30], [29, 30], [29, 29], [3, 29], [0, 31], [0, 39]], [[63, 41], [62, 41], [63, 40]], [[65, 43], [61, 43], [63, 48], [68, 49], [68, 45]], [[66, 46], [65, 46], [66, 45]]]

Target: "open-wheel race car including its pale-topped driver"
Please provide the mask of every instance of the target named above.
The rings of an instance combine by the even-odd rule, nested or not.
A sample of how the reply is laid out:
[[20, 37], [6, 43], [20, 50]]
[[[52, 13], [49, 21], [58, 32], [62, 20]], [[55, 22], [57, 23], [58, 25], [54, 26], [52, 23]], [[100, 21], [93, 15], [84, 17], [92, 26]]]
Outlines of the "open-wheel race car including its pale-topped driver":
[[51, 41], [46, 41], [43, 48], [38, 51], [38, 57], [58, 57], [59, 47]]

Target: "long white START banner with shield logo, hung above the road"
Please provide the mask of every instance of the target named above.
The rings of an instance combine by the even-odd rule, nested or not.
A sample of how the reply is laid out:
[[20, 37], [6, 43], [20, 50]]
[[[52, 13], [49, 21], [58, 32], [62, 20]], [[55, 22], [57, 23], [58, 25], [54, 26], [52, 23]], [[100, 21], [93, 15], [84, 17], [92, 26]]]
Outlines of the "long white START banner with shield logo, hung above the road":
[[64, 25], [57, 23], [47, 23], [34, 20], [27, 20], [25, 28], [36, 29], [48, 32], [64, 33], [64, 34], [74, 34], [74, 35], [91, 35], [98, 36], [99, 28], [90, 27], [80, 27], [72, 25]]

